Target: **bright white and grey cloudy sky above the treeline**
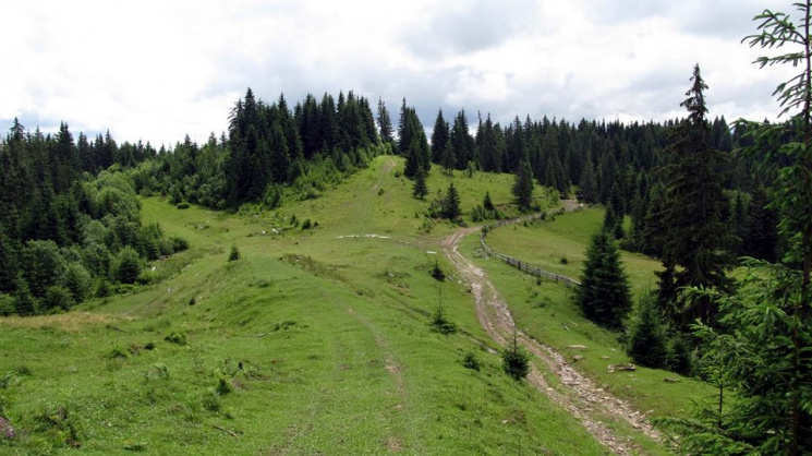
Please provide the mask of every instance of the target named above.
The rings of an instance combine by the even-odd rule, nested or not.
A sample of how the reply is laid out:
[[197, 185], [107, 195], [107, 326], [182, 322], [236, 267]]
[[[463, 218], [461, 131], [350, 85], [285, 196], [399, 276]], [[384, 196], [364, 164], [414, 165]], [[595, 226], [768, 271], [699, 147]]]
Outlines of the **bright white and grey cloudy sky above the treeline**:
[[[122, 141], [203, 142], [246, 87], [403, 97], [431, 129], [441, 108], [662, 121], [696, 62], [711, 116], [774, 118], [787, 69], [759, 70], [740, 40], [777, 0], [40, 1], [0, 7], [0, 128]], [[397, 121], [397, 118], [395, 118]]]

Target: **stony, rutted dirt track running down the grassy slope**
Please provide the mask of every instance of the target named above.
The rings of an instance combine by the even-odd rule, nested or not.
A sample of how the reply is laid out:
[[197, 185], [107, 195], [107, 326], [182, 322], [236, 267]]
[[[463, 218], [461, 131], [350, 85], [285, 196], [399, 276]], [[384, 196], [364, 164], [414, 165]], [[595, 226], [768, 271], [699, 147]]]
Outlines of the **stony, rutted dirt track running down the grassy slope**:
[[[570, 204], [566, 207], [571, 211], [574, 206]], [[468, 235], [478, 232], [480, 229], [480, 227], [471, 227], [457, 230], [443, 241], [443, 250], [462, 278], [471, 286], [476, 305], [476, 315], [482, 327], [494, 340], [505, 346], [512, 337], [514, 327], [510, 310], [505, 301], [499, 299], [496, 288], [487, 279], [485, 272], [458, 251], [460, 240]], [[560, 391], [553, 388], [535, 365], [533, 365], [528, 376], [529, 382], [575, 416], [582, 425], [609, 451], [620, 455], [637, 453], [633, 444], [629, 443], [627, 439], [618, 436], [615, 431], [598, 421], [597, 418], [626, 421], [645, 435], [655, 440], [659, 439], [657, 432], [652, 429], [640, 411], [581, 375], [560, 352], [522, 332], [517, 334], [521, 345], [533, 353], [536, 360], [546, 363], [549, 370], [558, 375], [563, 388]]]

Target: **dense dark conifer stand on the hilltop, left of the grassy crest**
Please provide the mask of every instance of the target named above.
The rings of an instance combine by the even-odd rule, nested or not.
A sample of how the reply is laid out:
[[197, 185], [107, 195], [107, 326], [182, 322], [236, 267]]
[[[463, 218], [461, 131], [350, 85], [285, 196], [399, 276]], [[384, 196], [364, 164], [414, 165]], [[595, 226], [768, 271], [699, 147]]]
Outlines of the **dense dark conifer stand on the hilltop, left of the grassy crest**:
[[[383, 104], [381, 112], [387, 121]], [[391, 137], [386, 125], [381, 132]], [[228, 136], [211, 134], [202, 146], [186, 137], [132, 177], [140, 193], [169, 195], [173, 203], [274, 208], [286, 189], [295, 199], [316, 197], [386, 151], [368, 100], [352, 92], [338, 99], [307, 95], [291, 111], [283, 95], [268, 104], [249, 88], [231, 110]]]

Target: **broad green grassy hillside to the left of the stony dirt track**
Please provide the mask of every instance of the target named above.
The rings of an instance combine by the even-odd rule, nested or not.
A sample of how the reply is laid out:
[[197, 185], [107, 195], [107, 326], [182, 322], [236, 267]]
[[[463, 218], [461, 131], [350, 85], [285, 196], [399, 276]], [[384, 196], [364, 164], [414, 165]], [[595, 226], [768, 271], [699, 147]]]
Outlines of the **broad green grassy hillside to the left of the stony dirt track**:
[[[75, 311], [0, 319], [3, 454], [603, 454], [569, 413], [501, 372], [471, 296], [397, 177], [400, 159], [324, 197], [244, 216], [144, 200], [192, 248], [163, 281]], [[432, 194], [451, 178], [433, 172]], [[463, 211], [510, 176], [453, 178]], [[291, 224], [295, 215], [299, 227]], [[302, 230], [305, 219], [318, 221]], [[235, 245], [241, 259], [229, 262]], [[154, 268], [154, 271], [153, 271]], [[459, 326], [433, 332], [438, 300]], [[462, 365], [465, 353], [480, 371]]]

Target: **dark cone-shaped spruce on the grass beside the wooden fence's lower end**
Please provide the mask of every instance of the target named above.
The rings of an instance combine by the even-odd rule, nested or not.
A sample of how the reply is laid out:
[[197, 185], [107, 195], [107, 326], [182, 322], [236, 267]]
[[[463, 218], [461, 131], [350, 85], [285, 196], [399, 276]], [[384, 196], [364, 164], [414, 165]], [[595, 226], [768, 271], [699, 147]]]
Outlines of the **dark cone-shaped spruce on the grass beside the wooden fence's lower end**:
[[575, 301], [587, 319], [607, 327], [619, 327], [631, 309], [620, 253], [611, 236], [604, 230], [592, 236]]

